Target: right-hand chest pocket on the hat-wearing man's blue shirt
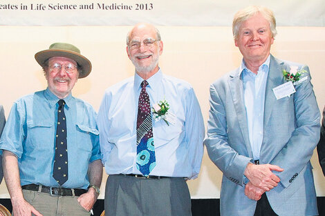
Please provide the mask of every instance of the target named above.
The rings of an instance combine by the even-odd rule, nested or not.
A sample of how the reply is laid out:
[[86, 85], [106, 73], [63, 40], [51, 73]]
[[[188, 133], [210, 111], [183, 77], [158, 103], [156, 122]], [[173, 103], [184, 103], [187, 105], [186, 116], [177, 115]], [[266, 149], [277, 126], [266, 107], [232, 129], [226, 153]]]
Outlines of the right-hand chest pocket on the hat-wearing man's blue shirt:
[[91, 153], [93, 150], [92, 137], [98, 136], [99, 132], [96, 128], [89, 125], [76, 124], [77, 128], [77, 146], [78, 148], [85, 150], [87, 153]]

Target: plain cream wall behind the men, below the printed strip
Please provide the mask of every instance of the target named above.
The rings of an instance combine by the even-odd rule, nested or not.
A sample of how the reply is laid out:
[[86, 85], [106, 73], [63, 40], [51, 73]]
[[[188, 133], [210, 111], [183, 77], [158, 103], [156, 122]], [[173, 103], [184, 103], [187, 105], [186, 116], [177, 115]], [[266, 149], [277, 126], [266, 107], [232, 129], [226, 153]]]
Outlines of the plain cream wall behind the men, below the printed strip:
[[[164, 41], [160, 67], [165, 74], [185, 79], [194, 86], [206, 122], [210, 84], [241, 62], [231, 28], [163, 26], [159, 29]], [[15, 99], [46, 88], [46, 79], [34, 55], [56, 41], [75, 44], [91, 59], [93, 71], [89, 77], [77, 82], [73, 95], [89, 101], [98, 110], [104, 90], [133, 75], [133, 66], [125, 52], [128, 30], [129, 27], [122, 26], [0, 26], [0, 103], [5, 108], [6, 117]], [[279, 27], [272, 54], [310, 67], [319, 109], [322, 109], [325, 105], [325, 28]], [[325, 179], [317, 153], [313, 155], [312, 163], [317, 195], [324, 196]], [[102, 191], [106, 175], [103, 179]], [[188, 184], [193, 198], [219, 198], [221, 172], [206, 153], [200, 176]], [[4, 183], [0, 186], [0, 197], [9, 197]]]

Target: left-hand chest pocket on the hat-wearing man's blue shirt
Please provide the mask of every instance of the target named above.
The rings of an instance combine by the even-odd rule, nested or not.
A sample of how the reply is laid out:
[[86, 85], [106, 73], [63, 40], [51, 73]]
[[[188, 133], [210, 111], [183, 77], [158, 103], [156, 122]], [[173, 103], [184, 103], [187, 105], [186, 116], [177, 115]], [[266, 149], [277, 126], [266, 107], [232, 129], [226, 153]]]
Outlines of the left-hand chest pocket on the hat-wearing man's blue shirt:
[[55, 140], [53, 122], [48, 120], [27, 120], [26, 147], [53, 147]]

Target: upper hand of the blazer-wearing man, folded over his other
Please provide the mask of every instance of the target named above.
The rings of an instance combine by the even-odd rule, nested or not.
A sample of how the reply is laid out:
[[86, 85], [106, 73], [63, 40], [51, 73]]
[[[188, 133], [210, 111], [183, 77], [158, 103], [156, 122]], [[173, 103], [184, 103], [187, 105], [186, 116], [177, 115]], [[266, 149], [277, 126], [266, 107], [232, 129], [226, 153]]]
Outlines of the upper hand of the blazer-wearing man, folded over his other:
[[282, 172], [284, 169], [271, 164], [255, 165], [249, 163], [245, 168], [244, 175], [250, 180], [253, 186], [269, 191], [280, 182], [280, 178], [272, 173], [272, 170]]

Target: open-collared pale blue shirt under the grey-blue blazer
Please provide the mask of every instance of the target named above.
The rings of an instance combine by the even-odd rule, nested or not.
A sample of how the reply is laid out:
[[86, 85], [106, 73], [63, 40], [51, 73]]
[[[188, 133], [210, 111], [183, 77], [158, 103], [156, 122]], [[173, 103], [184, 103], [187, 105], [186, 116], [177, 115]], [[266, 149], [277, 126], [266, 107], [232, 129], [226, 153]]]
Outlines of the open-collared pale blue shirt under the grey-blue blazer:
[[269, 66], [270, 55], [259, 66], [257, 75], [245, 66], [245, 61], [242, 61], [240, 68], [241, 79], [243, 79], [243, 96], [248, 122], [248, 133], [254, 160], [259, 159], [259, 152], [263, 141], [264, 103]]

